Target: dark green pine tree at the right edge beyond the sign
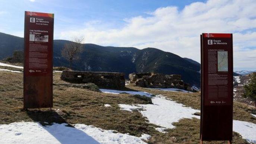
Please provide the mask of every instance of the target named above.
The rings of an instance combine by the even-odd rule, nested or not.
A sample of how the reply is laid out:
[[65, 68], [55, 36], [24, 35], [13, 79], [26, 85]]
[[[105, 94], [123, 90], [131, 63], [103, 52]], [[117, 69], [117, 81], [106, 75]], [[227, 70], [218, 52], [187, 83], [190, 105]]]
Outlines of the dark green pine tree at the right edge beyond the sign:
[[253, 99], [256, 106], [256, 73], [250, 74], [250, 80], [248, 84], [244, 84], [243, 96]]

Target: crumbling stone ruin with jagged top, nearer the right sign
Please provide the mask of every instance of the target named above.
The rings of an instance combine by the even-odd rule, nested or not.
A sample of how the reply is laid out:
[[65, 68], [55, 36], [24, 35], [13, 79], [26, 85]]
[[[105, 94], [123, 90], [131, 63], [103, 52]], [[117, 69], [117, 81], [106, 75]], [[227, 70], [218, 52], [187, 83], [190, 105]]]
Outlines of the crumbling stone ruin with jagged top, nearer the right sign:
[[[143, 75], [145, 74], [145, 75]], [[150, 75], [149, 75], [150, 74]], [[129, 74], [130, 83], [136, 86], [150, 88], [177, 88], [191, 91], [190, 84], [181, 80], [178, 74], [151, 74], [151, 73], [133, 73]]]

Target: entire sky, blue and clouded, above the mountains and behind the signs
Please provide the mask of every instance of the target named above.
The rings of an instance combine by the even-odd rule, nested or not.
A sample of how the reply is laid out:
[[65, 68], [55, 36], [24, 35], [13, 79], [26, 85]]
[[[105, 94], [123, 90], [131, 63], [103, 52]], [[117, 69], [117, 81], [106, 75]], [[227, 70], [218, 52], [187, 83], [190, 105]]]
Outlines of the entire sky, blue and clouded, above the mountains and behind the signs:
[[255, 0], [0, 0], [0, 32], [23, 37], [24, 11], [54, 13], [54, 39], [155, 47], [200, 61], [202, 32], [233, 33], [234, 70], [256, 70]]

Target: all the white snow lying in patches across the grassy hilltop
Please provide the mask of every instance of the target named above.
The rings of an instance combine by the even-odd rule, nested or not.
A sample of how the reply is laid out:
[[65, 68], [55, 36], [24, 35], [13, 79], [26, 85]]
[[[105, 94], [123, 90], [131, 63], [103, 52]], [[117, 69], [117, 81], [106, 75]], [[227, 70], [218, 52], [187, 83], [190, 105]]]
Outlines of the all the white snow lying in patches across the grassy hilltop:
[[[7, 66], [8, 64], [0, 63], [0, 65]], [[9, 66], [13, 67], [13, 65]], [[16, 68], [20, 68], [15, 66]], [[4, 71], [11, 71], [0, 69]], [[11, 71], [16, 72], [16, 71]], [[18, 71], [20, 73], [20, 71]], [[58, 71], [60, 72], [60, 71]], [[104, 93], [120, 94], [129, 93], [131, 95], [144, 95], [152, 98], [153, 104], [146, 105], [126, 105], [119, 104], [119, 107], [126, 111], [139, 111], [145, 116], [150, 123], [158, 125], [157, 129], [160, 132], [165, 132], [167, 128], [175, 128], [172, 123], [178, 122], [182, 118], [198, 118], [200, 116], [194, 115], [199, 110], [186, 107], [183, 104], [176, 103], [164, 96], [152, 96], [147, 92], [134, 91], [120, 91], [100, 89]], [[158, 89], [166, 91], [183, 91], [179, 89]], [[105, 104], [109, 107], [109, 104]], [[253, 114], [252, 114], [253, 115]], [[256, 115], [253, 115], [256, 116]], [[74, 128], [66, 127], [66, 124], [53, 124], [51, 126], [43, 127], [37, 122], [15, 122], [9, 125], [0, 125], [0, 144], [145, 144], [143, 140], [148, 140], [151, 136], [143, 134], [141, 137], [135, 137], [128, 134], [120, 134], [114, 130], [103, 130], [94, 126], [84, 124], [76, 124]], [[238, 132], [244, 139], [251, 143], [256, 143], [256, 124], [245, 121], [233, 121], [233, 131]]]

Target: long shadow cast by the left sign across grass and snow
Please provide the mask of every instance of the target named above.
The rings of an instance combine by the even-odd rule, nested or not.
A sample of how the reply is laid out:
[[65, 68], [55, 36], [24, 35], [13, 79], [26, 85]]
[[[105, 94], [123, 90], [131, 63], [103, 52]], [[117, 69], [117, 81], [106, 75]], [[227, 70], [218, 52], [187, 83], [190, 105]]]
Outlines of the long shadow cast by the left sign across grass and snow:
[[39, 122], [42, 125], [42, 128], [48, 131], [61, 144], [99, 144], [98, 141], [82, 130], [74, 128], [72, 125], [68, 124], [56, 111], [26, 110], [26, 113], [31, 119]]

